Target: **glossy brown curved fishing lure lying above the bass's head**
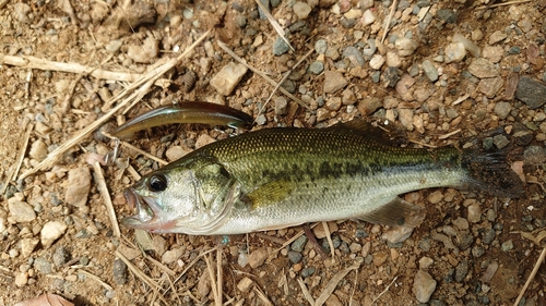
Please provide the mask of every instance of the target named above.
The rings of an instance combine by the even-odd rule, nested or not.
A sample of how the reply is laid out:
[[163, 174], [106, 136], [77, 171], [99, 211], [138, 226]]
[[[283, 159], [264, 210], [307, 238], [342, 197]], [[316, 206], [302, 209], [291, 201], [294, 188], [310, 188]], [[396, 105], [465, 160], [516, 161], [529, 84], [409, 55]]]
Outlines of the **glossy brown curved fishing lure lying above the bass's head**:
[[158, 107], [138, 115], [115, 128], [111, 135], [131, 139], [139, 131], [171, 123], [204, 123], [240, 128], [251, 126], [252, 117], [217, 103], [188, 101]]

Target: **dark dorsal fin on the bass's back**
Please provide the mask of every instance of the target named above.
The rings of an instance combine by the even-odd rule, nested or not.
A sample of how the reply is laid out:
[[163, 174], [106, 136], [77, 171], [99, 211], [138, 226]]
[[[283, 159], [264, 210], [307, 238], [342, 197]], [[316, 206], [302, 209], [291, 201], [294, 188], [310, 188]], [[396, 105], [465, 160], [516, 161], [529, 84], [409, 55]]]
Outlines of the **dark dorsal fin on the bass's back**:
[[381, 118], [354, 119], [349, 122], [339, 123], [329, 128], [349, 130], [367, 138], [385, 145], [401, 145], [407, 143], [405, 131], [394, 122]]

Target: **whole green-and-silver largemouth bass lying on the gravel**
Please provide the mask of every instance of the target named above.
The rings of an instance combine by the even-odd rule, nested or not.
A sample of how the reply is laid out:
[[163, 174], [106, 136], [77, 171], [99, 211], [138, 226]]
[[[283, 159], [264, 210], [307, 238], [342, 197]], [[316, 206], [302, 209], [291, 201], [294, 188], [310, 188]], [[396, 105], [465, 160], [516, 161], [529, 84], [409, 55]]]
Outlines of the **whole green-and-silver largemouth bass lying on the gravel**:
[[121, 223], [190, 235], [344, 219], [415, 227], [424, 209], [401, 194], [449, 186], [503, 198], [523, 195], [505, 152], [479, 146], [400, 147], [384, 123], [264, 128], [217, 140], [128, 187], [126, 199], [136, 215]]

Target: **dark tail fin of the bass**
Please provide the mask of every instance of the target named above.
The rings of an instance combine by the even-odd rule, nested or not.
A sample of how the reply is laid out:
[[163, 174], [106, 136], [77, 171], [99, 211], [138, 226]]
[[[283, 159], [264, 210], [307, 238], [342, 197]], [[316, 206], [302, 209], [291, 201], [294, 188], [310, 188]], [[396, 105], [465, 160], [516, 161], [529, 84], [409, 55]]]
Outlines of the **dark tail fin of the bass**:
[[[485, 137], [500, 134], [509, 137], [502, 127], [490, 131]], [[473, 146], [463, 150], [462, 167], [468, 173], [468, 187], [498, 197], [522, 197], [525, 194], [523, 184], [507, 162], [509, 149], [484, 148], [483, 138], [484, 135], [472, 139]]]

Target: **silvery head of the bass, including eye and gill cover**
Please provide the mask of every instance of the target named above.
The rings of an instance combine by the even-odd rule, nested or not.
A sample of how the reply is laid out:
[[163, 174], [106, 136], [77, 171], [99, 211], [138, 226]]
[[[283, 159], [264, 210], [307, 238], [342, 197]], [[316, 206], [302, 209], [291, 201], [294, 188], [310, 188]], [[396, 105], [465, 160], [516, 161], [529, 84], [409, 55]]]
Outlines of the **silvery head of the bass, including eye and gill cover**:
[[215, 162], [167, 166], [126, 189], [126, 199], [136, 213], [121, 223], [154, 233], [207, 234], [225, 219], [235, 185]]

